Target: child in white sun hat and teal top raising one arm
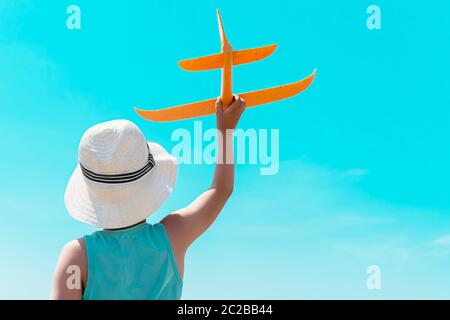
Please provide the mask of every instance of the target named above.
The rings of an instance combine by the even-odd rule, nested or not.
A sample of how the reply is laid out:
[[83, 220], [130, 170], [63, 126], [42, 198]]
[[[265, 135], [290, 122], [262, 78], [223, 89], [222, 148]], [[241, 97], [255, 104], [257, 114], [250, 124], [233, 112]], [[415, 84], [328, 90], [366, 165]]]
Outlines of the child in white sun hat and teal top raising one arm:
[[[234, 186], [232, 133], [245, 110], [235, 96], [216, 103], [217, 163], [211, 187], [160, 223], [146, 218], [172, 191], [176, 160], [146, 142], [133, 123], [115, 120], [83, 135], [64, 201], [77, 220], [102, 228], [60, 254], [51, 299], [180, 299], [188, 247], [219, 215]], [[228, 159], [228, 160], [226, 160]]]

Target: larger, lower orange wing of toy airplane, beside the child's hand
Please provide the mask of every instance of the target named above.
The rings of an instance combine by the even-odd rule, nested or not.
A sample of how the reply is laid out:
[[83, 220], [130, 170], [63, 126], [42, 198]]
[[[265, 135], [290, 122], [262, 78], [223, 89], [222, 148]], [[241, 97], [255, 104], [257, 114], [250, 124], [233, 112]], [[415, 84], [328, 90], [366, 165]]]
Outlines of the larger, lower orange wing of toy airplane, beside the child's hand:
[[[316, 70], [307, 78], [269, 89], [262, 89], [240, 94], [246, 101], [247, 107], [255, 107], [262, 104], [283, 100], [299, 94], [309, 87], [316, 75]], [[207, 116], [215, 113], [216, 99], [209, 99], [200, 102], [189, 103], [177, 107], [161, 110], [140, 110], [136, 112], [144, 119], [156, 122], [177, 121], [196, 117]]]

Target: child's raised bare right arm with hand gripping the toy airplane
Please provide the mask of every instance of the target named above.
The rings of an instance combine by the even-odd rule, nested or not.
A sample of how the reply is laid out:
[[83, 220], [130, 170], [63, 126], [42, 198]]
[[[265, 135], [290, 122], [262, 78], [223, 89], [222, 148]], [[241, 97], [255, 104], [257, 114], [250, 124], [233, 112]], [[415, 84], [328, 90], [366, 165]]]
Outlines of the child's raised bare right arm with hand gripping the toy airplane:
[[235, 96], [233, 103], [225, 110], [222, 110], [220, 98], [217, 100], [218, 149], [211, 187], [190, 205], [175, 211], [161, 221], [169, 235], [180, 273], [183, 273], [187, 248], [214, 222], [233, 192], [233, 132], [244, 110], [245, 101], [239, 96]]

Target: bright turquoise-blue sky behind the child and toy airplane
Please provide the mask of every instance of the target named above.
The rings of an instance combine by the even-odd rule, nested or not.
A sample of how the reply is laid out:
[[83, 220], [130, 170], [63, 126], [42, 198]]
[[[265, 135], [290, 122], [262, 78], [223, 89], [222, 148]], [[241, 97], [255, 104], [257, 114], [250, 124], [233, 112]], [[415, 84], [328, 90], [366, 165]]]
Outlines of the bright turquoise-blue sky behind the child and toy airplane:
[[[366, 27], [373, 3], [381, 30]], [[81, 30], [66, 28], [71, 4]], [[63, 203], [88, 127], [126, 118], [170, 150], [192, 120], [150, 123], [132, 107], [219, 94], [218, 71], [176, 63], [219, 50], [215, 8], [234, 48], [279, 45], [235, 68], [236, 92], [318, 71], [301, 95], [245, 113], [241, 128], [280, 130], [280, 171], [238, 166], [232, 200], [188, 253], [184, 298], [450, 297], [449, 3], [1, 0], [0, 298], [47, 298], [61, 247], [94, 231]], [[150, 221], [212, 169], [181, 166]], [[366, 288], [373, 264], [381, 290]]]

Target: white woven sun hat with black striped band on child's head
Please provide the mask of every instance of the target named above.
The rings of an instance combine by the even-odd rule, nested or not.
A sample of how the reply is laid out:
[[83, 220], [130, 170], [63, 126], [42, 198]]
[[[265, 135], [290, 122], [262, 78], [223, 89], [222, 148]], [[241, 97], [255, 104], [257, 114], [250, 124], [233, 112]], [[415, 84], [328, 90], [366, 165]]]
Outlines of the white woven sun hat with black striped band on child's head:
[[147, 142], [128, 120], [89, 128], [78, 148], [78, 165], [64, 203], [70, 215], [89, 225], [124, 228], [145, 220], [172, 192], [176, 158]]

